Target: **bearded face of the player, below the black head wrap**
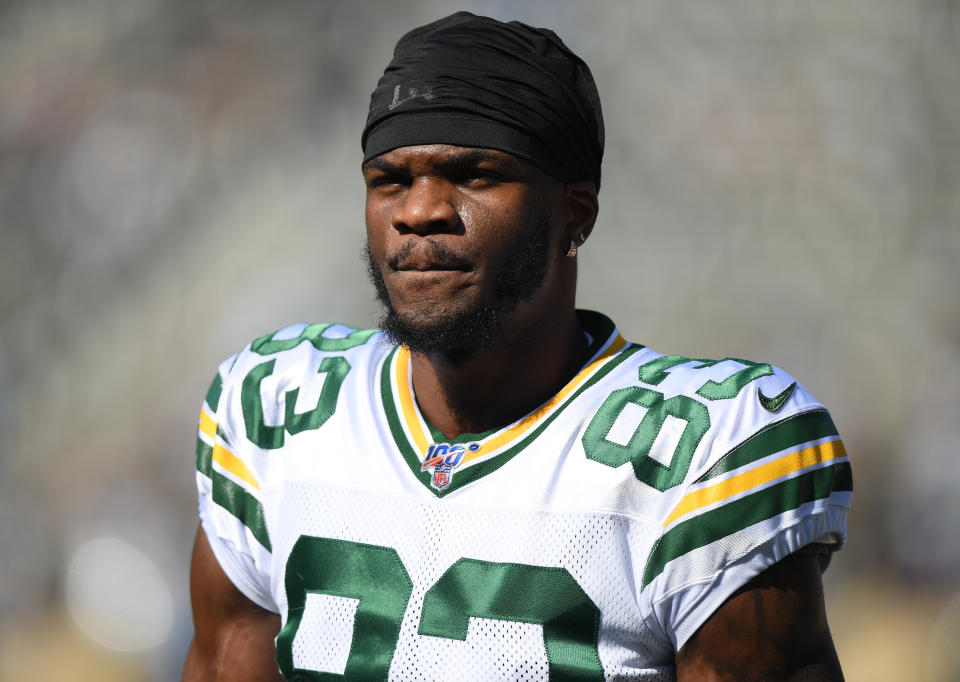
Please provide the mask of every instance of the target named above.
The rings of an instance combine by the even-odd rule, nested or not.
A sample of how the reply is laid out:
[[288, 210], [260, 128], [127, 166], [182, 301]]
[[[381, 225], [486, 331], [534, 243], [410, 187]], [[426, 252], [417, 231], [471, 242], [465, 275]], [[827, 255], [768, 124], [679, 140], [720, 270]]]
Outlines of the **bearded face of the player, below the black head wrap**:
[[489, 347], [550, 285], [561, 185], [491, 149], [401, 147], [364, 165], [381, 328], [415, 351]]

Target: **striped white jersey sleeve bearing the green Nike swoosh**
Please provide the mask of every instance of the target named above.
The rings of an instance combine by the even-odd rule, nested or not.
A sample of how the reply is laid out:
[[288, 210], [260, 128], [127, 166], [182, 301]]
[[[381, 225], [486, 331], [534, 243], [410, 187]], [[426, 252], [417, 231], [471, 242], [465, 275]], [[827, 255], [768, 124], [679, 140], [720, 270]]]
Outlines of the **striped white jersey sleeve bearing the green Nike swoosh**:
[[846, 538], [852, 476], [843, 442], [827, 410], [771, 370], [709, 404], [697, 465], [663, 506], [642, 609], [676, 651], [757, 574]]

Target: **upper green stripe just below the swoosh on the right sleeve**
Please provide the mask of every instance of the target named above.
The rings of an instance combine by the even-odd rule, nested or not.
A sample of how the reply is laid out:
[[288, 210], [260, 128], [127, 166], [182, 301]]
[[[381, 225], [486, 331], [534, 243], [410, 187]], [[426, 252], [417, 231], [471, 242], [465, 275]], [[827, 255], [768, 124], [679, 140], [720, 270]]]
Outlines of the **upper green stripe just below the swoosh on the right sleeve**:
[[818, 438], [836, 436], [837, 427], [833, 425], [826, 410], [812, 410], [787, 417], [775, 424], [765, 426], [743, 443], [724, 455], [707, 473], [697, 479], [697, 483], [738, 469], [745, 464], [756, 462], [767, 455], [786, 450]]

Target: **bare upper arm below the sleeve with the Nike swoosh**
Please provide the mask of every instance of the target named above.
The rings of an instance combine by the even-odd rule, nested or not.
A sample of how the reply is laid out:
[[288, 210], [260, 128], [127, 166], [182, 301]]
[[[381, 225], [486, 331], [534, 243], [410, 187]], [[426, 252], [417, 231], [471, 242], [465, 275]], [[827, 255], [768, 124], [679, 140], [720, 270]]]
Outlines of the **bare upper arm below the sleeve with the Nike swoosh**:
[[819, 558], [793, 554], [748, 582], [686, 642], [677, 680], [842, 680]]

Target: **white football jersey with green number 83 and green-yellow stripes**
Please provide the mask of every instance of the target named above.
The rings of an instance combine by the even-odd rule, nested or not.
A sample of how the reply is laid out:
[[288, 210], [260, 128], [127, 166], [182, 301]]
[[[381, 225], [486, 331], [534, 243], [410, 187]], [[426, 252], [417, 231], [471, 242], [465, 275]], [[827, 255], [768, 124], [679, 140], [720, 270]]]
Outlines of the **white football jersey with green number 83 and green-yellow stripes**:
[[200, 518], [280, 614], [287, 679], [672, 680], [737, 588], [843, 543], [850, 465], [792, 377], [578, 314], [590, 359], [563, 390], [454, 440], [379, 332], [294, 325], [220, 366]]

